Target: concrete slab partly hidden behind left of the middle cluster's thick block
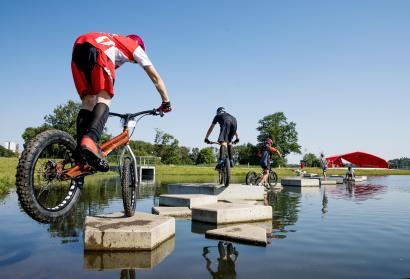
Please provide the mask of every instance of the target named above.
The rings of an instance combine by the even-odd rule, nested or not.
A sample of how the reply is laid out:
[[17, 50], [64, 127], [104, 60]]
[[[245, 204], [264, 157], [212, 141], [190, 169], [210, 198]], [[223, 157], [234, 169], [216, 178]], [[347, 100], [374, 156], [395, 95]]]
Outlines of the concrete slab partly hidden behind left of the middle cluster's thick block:
[[204, 204], [216, 203], [218, 198], [212, 195], [203, 194], [177, 194], [159, 196], [159, 205], [189, 207], [201, 206]]

